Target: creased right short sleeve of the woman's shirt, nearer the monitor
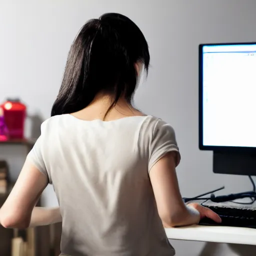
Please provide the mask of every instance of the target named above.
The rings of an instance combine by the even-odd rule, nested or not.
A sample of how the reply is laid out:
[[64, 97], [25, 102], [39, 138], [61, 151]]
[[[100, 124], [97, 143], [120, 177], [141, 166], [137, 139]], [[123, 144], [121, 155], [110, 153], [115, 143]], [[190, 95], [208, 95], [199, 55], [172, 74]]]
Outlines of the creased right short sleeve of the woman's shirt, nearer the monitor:
[[162, 121], [157, 119], [151, 141], [149, 141], [149, 161], [148, 170], [166, 153], [175, 151], [176, 152], [176, 166], [180, 161], [180, 154], [176, 142], [174, 129]]

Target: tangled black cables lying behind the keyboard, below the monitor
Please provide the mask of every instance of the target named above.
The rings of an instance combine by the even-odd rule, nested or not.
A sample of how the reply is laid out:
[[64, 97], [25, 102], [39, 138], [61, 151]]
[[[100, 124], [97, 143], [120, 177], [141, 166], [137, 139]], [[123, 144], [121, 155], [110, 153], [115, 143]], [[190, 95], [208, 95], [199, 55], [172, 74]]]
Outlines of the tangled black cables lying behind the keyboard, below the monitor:
[[[232, 201], [232, 202], [235, 202], [235, 203], [238, 203], [238, 204], [252, 204], [253, 202], [256, 201], [256, 185], [255, 185], [252, 177], [251, 176], [248, 176], [248, 177], [249, 177], [249, 180], [252, 183], [252, 191], [215, 196], [214, 192], [223, 189], [224, 186], [222, 186], [220, 188], [217, 188], [215, 190], [197, 195], [195, 197], [183, 197], [183, 201], [186, 203], [186, 202], [192, 201], [192, 200], [211, 200], [213, 202]], [[207, 194], [210, 194], [210, 196], [209, 197], [202, 197], [202, 196], [207, 195]], [[250, 198], [251, 201], [247, 202], [247, 203], [234, 201], [236, 199], [241, 199], [241, 198]]]

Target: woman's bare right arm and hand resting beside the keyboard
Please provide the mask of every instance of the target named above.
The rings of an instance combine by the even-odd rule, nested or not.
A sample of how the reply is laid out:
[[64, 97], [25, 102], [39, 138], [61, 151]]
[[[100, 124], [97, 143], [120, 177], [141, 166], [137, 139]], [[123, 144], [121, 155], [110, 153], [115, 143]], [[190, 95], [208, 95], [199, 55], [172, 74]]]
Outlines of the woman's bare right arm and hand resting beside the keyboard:
[[158, 214], [165, 227], [196, 224], [207, 216], [220, 222], [219, 216], [208, 208], [197, 204], [185, 205], [180, 195], [175, 171], [175, 153], [170, 152], [151, 168], [151, 180]]

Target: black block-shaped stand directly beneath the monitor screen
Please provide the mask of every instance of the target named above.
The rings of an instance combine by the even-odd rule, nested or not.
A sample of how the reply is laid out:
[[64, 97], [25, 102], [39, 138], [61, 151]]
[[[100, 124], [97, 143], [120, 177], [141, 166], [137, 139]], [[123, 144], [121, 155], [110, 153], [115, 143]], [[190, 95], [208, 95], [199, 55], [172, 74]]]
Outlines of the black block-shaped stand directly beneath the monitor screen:
[[256, 176], [256, 153], [214, 150], [213, 172]]

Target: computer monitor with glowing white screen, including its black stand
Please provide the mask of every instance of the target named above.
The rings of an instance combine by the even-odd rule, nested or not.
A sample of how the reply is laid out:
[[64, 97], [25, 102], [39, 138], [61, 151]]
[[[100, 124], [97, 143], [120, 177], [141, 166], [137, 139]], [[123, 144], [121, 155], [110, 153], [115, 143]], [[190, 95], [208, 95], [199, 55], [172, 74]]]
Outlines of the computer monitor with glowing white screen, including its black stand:
[[199, 45], [199, 148], [214, 172], [256, 175], [256, 42]]

